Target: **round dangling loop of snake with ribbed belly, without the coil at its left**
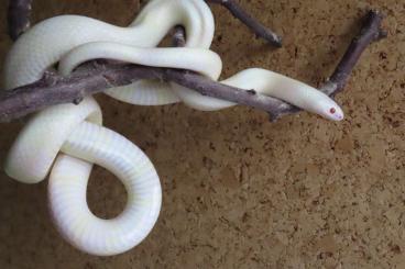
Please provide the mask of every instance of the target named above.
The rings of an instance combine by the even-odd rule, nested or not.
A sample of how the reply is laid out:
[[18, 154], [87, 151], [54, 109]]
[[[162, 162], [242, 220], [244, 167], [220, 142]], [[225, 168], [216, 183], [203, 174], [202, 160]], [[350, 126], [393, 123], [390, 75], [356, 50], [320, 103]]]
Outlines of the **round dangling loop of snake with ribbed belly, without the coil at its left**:
[[[83, 251], [117, 255], [140, 244], [156, 223], [162, 190], [149, 158], [116, 132], [80, 123], [64, 143], [50, 176], [51, 213], [61, 234]], [[72, 157], [73, 156], [73, 157]], [[128, 193], [116, 218], [101, 220], [88, 209], [86, 189], [92, 164], [114, 173]]]

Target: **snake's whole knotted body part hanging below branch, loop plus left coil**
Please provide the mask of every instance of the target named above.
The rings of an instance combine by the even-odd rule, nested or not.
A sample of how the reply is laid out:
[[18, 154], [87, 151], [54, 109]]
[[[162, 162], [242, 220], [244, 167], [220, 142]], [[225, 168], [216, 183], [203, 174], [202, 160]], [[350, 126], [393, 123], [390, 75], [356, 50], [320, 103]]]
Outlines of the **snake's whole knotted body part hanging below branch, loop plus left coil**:
[[[142, 150], [100, 125], [101, 111], [92, 98], [79, 105], [43, 110], [20, 133], [4, 170], [25, 183], [40, 182], [52, 170], [48, 198], [57, 229], [78, 249], [109, 256], [131, 249], [147, 236], [161, 210], [162, 190]], [[125, 187], [127, 206], [116, 218], [101, 220], [88, 209], [92, 164], [110, 170]]]

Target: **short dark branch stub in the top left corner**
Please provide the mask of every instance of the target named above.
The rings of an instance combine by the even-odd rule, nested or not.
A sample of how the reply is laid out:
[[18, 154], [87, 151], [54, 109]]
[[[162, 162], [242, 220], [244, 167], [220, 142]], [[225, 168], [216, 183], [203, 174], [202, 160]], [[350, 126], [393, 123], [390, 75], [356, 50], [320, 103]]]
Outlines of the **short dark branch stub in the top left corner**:
[[9, 0], [9, 35], [15, 41], [30, 27], [32, 0]]

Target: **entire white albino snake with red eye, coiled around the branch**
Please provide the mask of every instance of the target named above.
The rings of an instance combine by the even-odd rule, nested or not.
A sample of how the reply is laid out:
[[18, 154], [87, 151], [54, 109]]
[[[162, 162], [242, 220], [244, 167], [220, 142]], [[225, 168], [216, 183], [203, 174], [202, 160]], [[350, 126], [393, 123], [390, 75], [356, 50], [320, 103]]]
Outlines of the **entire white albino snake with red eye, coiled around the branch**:
[[[178, 24], [186, 29], [186, 47], [156, 48]], [[37, 80], [56, 63], [59, 74], [68, 75], [96, 58], [190, 69], [218, 80], [222, 64], [209, 51], [212, 37], [214, 18], [202, 0], [152, 0], [128, 27], [78, 15], [56, 16], [17, 41], [6, 60], [6, 88]], [[272, 71], [247, 69], [221, 82], [255, 89], [329, 120], [343, 119], [342, 110], [326, 94]], [[149, 80], [106, 93], [144, 105], [183, 101], [205, 111], [234, 105], [175, 83]], [[92, 164], [112, 171], [125, 186], [127, 208], [113, 220], [100, 220], [88, 209], [86, 189]], [[48, 198], [54, 222], [70, 244], [89, 254], [114, 255], [138, 245], [151, 232], [161, 209], [161, 186], [153, 165], [131, 142], [101, 126], [101, 112], [92, 98], [79, 105], [61, 104], [37, 113], [10, 149], [4, 169], [26, 183], [39, 182], [51, 171]]]

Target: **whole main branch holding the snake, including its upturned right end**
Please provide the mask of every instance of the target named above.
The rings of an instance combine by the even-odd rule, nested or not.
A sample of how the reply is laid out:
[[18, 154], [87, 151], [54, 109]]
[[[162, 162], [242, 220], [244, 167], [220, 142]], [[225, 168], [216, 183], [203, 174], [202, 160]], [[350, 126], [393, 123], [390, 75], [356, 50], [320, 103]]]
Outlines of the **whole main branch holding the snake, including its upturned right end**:
[[[321, 91], [333, 96], [335, 92], [343, 88], [361, 53], [373, 41], [385, 35], [381, 30], [381, 21], [382, 16], [379, 12], [369, 12], [361, 34], [354, 38], [333, 76], [320, 89]], [[182, 27], [176, 27], [174, 36], [177, 46], [184, 45], [184, 30]], [[204, 96], [264, 110], [271, 114], [273, 121], [282, 115], [299, 111], [286, 102], [256, 93], [254, 89], [245, 91], [225, 86], [187, 70], [97, 64], [95, 61], [79, 68], [67, 78], [46, 74], [40, 81], [14, 90], [2, 91], [0, 96], [0, 122], [9, 122], [54, 104], [78, 103], [86, 96], [101, 92], [108, 88], [124, 86], [138, 79], [174, 81]]]

